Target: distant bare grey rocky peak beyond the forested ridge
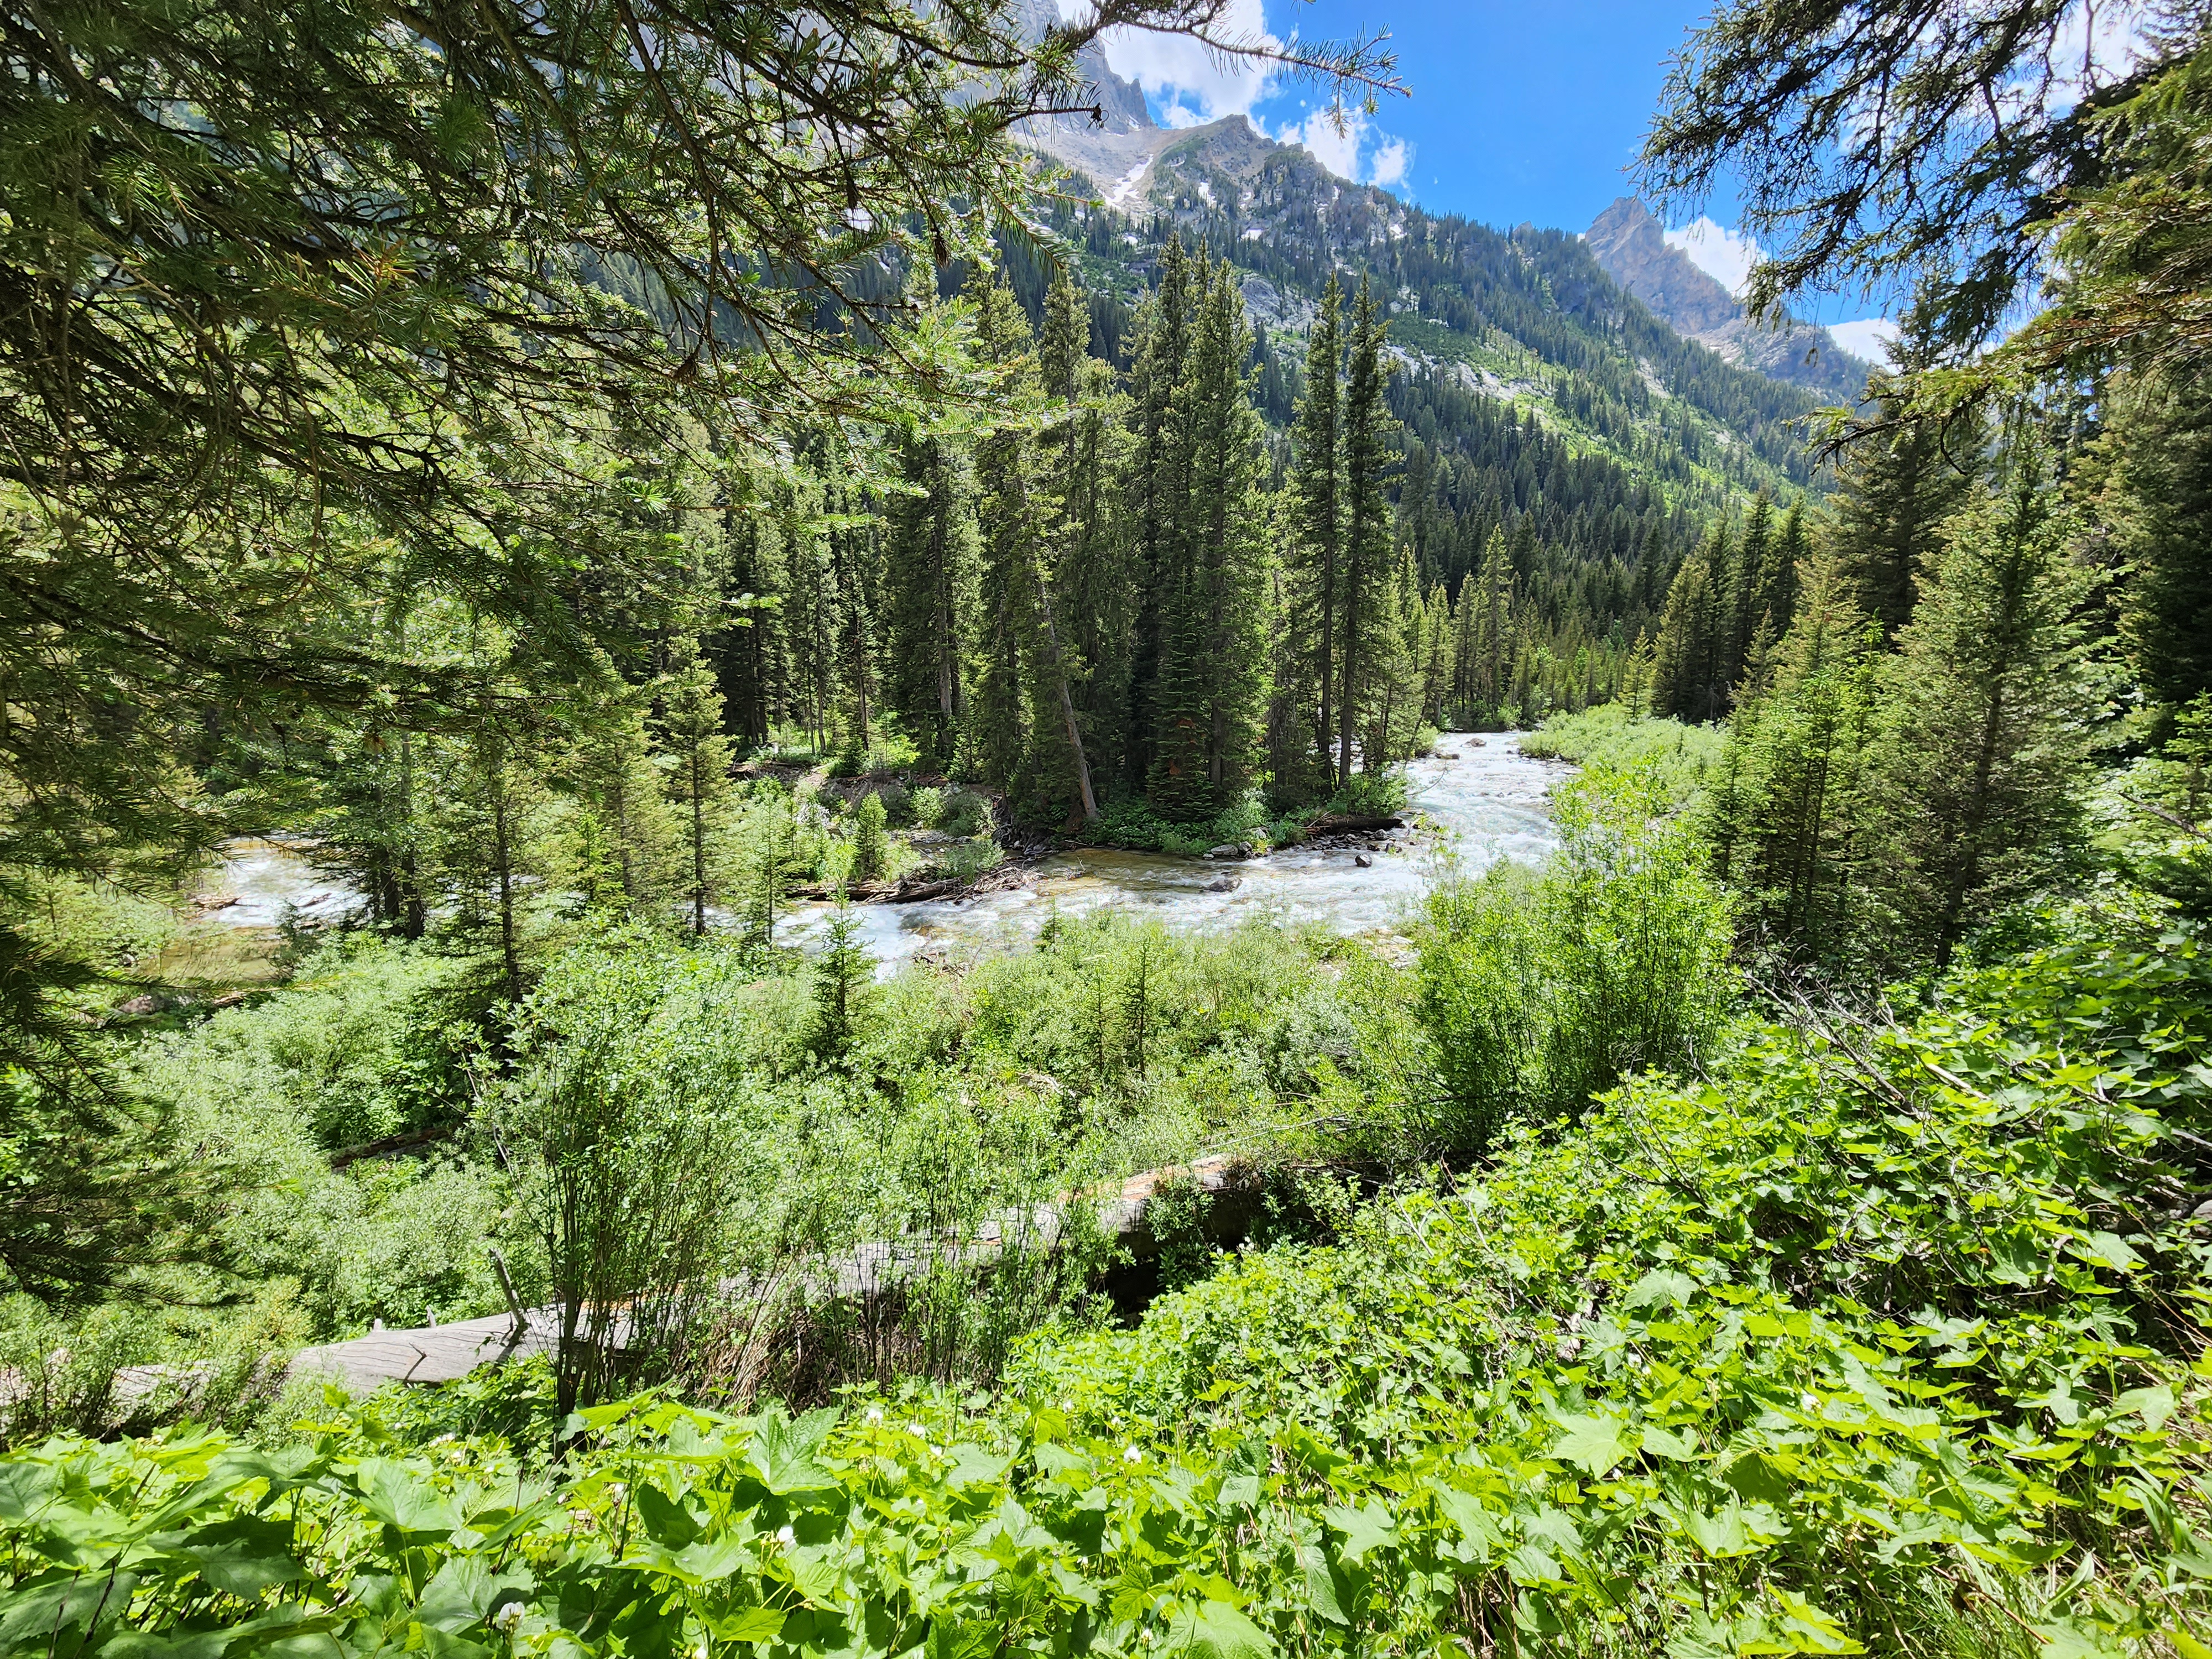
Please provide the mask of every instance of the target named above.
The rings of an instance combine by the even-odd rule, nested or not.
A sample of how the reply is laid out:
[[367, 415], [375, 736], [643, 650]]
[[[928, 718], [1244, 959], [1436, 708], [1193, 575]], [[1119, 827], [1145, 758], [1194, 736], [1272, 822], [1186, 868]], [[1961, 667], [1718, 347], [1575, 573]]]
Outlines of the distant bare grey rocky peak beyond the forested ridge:
[[1871, 365], [1836, 345], [1825, 327], [1794, 319], [1778, 327], [1752, 321], [1717, 276], [1666, 239], [1666, 226], [1635, 197], [1597, 215], [1584, 241], [1613, 281], [1730, 363], [1843, 400], [1865, 392]]

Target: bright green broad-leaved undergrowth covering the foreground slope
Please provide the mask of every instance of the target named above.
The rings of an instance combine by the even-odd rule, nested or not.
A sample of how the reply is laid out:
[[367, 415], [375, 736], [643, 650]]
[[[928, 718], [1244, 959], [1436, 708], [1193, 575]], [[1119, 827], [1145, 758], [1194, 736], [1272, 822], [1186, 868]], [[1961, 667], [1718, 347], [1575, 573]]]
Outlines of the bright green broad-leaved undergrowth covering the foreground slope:
[[995, 1396], [641, 1398], [560, 1462], [526, 1400], [55, 1438], [0, 1462], [0, 1648], [2201, 1659], [2212, 964], [2139, 909], [2055, 933]]

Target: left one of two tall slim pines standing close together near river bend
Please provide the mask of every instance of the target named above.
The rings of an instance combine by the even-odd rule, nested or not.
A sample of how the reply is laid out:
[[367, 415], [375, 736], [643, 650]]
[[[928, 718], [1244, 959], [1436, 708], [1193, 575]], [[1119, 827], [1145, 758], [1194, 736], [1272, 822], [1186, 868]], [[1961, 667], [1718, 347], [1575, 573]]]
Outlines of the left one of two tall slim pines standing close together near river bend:
[[[1338, 611], [1345, 538], [1345, 440], [1343, 440], [1343, 285], [1329, 274], [1321, 314], [1305, 352], [1305, 396], [1292, 427], [1290, 487], [1294, 500], [1290, 542], [1290, 653], [1296, 679], [1285, 688], [1307, 712], [1312, 754], [1323, 779], [1332, 779], [1329, 748], [1336, 737], [1336, 699], [1343, 695], [1338, 657], [1343, 650]], [[1294, 787], [1303, 779], [1287, 779]]]

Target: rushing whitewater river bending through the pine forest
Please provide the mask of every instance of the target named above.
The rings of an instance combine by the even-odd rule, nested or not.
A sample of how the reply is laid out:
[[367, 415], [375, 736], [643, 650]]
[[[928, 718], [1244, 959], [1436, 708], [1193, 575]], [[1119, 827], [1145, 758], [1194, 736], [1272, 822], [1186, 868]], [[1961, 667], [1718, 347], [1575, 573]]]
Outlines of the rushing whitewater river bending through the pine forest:
[[[1046, 858], [1026, 887], [925, 905], [854, 905], [854, 918], [883, 973], [922, 953], [1018, 945], [1035, 938], [1053, 916], [1102, 905], [1192, 929], [1234, 927], [1245, 918], [1318, 922], [1338, 933], [1396, 929], [1453, 865], [1478, 872], [1498, 858], [1542, 858], [1553, 845], [1544, 796], [1564, 772], [1555, 761], [1522, 754], [1511, 732], [1453, 732], [1431, 759], [1407, 770], [1411, 805], [1436, 825], [1433, 832], [1398, 830], [1365, 836], [1371, 849], [1290, 847], [1239, 863], [1084, 849]], [[1234, 883], [1228, 891], [1219, 891], [1223, 878]], [[234, 900], [212, 911], [212, 920], [237, 927], [274, 927], [288, 907], [303, 920], [334, 922], [361, 902], [352, 887], [319, 874], [279, 841], [223, 847], [206, 891]], [[805, 947], [827, 918], [827, 905], [799, 905], [783, 922], [783, 940]]]

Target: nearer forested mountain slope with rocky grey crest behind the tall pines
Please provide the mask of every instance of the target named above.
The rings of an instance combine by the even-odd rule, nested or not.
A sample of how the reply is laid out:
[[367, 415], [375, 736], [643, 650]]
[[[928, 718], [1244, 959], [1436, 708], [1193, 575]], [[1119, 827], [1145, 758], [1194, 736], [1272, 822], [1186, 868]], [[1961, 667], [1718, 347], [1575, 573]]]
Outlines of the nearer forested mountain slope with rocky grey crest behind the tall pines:
[[[1438, 422], [1429, 438], [1478, 442], [1486, 407], [1699, 511], [1759, 489], [1818, 487], [1803, 422], [1856, 385], [1823, 396], [1686, 338], [1624, 294], [1573, 232], [1431, 215], [1329, 173], [1243, 115], [1161, 128], [1135, 84], [1102, 58], [1084, 66], [1108, 119], [1033, 122], [1022, 139], [1079, 175], [1075, 199], [1048, 217], [1077, 250], [1104, 356], [1126, 361], [1126, 321], [1177, 232], [1237, 265], [1261, 334], [1259, 403], [1276, 425], [1290, 420], [1329, 276], [1347, 288], [1371, 276], [1405, 365], [1394, 398], [1409, 429], [1429, 418], [1416, 414], [1422, 405]], [[1026, 285], [1024, 303], [1042, 314], [1042, 276]]]

